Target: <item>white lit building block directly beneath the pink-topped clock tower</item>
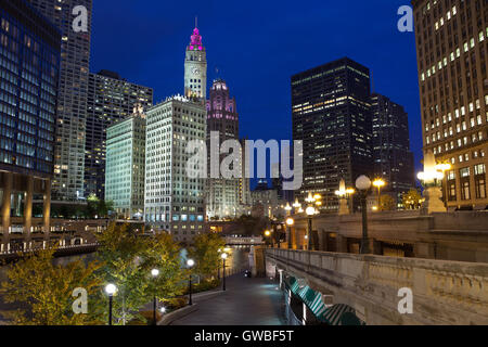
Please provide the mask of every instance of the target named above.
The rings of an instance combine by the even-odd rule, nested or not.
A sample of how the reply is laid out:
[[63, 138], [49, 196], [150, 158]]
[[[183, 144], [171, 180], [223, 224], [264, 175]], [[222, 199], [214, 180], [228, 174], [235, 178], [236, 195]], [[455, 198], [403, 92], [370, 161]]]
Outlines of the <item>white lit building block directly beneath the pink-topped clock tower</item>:
[[189, 141], [205, 144], [206, 107], [201, 99], [172, 97], [147, 111], [145, 223], [177, 241], [205, 230], [205, 179], [188, 172]]

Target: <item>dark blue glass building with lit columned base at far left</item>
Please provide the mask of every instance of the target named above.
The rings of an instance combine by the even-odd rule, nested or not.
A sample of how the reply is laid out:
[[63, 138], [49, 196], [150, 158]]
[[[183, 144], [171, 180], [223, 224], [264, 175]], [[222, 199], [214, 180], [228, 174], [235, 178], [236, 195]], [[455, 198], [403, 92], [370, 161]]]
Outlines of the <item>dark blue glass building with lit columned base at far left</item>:
[[[4, 253], [30, 248], [49, 237], [61, 34], [24, 0], [0, 0], [0, 253]], [[42, 223], [33, 224], [35, 194], [43, 196], [44, 206]], [[11, 217], [23, 217], [23, 222], [13, 224]]]

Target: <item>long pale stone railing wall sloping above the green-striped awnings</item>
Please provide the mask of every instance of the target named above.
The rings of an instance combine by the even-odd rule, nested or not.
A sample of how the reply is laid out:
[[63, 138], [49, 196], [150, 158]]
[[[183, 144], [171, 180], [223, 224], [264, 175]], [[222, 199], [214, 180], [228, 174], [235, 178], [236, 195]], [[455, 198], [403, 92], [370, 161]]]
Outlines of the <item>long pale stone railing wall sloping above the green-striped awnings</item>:
[[[488, 264], [288, 249], [266, 249], [266, 262], [355, 307], [368, 324], [488, 324]], [[401, 314], [404, 287], [413, 312]]]

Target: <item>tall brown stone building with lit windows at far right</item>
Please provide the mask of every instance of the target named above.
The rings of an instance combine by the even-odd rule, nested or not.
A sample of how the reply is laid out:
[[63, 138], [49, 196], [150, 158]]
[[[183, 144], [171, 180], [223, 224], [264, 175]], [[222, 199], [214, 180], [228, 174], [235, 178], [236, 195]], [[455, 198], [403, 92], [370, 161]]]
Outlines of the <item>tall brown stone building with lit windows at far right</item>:
[[488, 3], [412, 1], [424, 153], [452, 169], [450, 208], [485, 208], [488, 164]]

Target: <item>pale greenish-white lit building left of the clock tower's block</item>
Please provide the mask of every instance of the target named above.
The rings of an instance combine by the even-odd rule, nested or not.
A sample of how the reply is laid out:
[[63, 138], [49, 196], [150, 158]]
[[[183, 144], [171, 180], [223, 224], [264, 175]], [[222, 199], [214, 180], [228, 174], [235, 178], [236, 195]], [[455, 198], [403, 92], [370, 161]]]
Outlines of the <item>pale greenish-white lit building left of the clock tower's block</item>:
[[144, 211], [145, 125], [141, 104], [126, 119], [106, 130], [105, 201], [124, 218], [142, 218]]

